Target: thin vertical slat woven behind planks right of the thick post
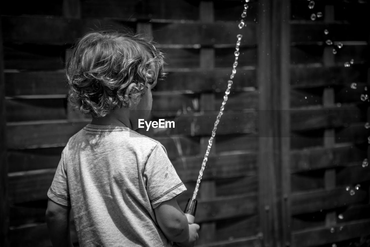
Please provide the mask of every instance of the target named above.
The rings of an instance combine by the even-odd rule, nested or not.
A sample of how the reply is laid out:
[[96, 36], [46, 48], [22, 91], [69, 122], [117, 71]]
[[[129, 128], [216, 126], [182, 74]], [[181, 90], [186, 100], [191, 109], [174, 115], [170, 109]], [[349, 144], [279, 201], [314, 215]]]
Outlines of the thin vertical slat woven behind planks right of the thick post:
[[[334, 6], [327, 5], [325, 6], [324, 12], [325, 18], [324, 22], [334, 21]], [[330, 32], [330, 31], [329, 31]], [[334, 66], [334, 54], [333, 47], [325, 47], [323, 53], [323, 64], [324, 66]], [[334, 106], [335, 102], [335, 92], [334, 88], [325, 88], [323, 92], [323, 106], [330, 107]], [[324, 147], [332, 148], [335, 145], [335, 130], [326, 129], [324, 131]], [[332, 190], [336, 186], [336, 171], [335, 169], [327, 169], [324, 174], [324, 185], [326, 190]], [[325, 221], [326, 226], [331, 226], [336, 224], [336, 213], [331, 212], [326, 215]]]

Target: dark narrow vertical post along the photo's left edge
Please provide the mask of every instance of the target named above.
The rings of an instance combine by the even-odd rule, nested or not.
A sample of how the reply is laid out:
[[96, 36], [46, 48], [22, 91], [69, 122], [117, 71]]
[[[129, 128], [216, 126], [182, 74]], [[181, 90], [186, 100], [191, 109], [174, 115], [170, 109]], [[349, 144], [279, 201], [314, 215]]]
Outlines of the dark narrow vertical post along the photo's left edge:
[[6, 114], [3, 32], [0, 18], [0, 246], [8, 247], [9, 200], [8, 200], [8, 165], [6, 160]]

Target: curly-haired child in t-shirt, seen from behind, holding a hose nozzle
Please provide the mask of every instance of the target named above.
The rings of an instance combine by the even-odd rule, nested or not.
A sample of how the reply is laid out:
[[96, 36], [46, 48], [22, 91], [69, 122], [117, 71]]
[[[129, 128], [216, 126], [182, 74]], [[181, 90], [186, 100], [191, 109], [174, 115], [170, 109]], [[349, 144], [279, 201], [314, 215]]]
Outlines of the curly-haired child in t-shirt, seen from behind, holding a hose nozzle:
[[65, 146], [48, 190], [53, 246], [73, 246], [72, 208], [84, 246], [194, 246], [175, 197], [186, 190], [164, 147], [134, 130], [152, 108], [163, 53], [144, 38], [91, 32], [67, 64], [69, 101], [92, 121]]

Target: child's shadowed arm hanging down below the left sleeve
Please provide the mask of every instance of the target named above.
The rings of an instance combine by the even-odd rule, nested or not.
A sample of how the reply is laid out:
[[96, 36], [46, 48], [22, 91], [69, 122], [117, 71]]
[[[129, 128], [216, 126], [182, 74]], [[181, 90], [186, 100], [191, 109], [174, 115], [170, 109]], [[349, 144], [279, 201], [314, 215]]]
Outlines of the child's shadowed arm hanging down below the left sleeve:
[[48, 200], [46, 224], [53, 247], [73, 247], [70, 235], [70, 210], [71, 207], [60, 205], [50, 199]]

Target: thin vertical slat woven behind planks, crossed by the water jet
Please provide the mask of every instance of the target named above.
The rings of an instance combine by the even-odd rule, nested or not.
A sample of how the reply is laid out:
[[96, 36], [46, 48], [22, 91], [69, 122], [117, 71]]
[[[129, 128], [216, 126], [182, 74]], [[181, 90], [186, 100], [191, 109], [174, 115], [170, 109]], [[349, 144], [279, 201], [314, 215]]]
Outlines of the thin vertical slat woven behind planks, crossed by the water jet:
[[[199, 20], [203, 23], [210, 23], [214, 21], [214, 8], [212, 1], [201, 1], [199, 4]], [[200, 66], [202, 69], [213, 69], [215, 67], [215, 49], [214, 48], [201, 48], [200, 50]], [[200, 107], [202, 111], [209, 111], [215, 109], [215, 95], [213, 93], [203, 93], [200, 96]], [[209, 129], [209, 134], [211, 134]], [[207, 146], [208, 137], [201, 138], [200, 155], [203, 156]], [[210, 155], [214, 154], [216, 142], [213, 140]], [[206, 200], [216, 197], [216, 182], [215, 181], [202, 181], [199, 188], [199, 199]], [[215, 241], [216, 223], [202, 223], [199, 232], [198, 244], [206, 244]]]

